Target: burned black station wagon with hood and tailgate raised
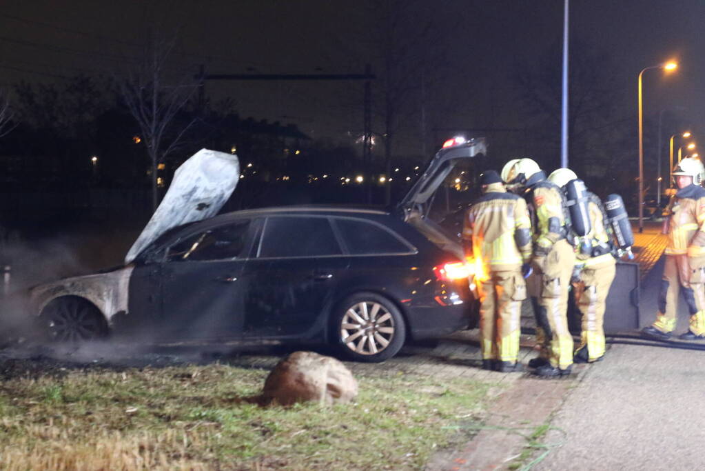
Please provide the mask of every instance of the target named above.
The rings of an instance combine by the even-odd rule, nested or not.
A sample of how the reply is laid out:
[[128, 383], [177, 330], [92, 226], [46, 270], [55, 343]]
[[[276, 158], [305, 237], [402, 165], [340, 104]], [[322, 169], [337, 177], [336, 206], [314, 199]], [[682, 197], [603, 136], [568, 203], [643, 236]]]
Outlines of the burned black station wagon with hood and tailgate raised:
[[441, 149], [390, 211], [214, 216], [240, 169], [234, 155], [203, 149], [178, 169], [123, 267], [33, 288], [34, 313], [55, 341], [310, 341], [386, 360], [477, 315], [462, 247], [425, 214], [455, 163], [479, 152], [482, 141]]

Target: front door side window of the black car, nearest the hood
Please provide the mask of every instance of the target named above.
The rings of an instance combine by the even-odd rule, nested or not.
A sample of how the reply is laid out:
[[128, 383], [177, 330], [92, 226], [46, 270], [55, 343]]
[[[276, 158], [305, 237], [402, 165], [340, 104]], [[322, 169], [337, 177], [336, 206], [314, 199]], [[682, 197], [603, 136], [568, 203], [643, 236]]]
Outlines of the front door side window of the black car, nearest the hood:
[[237, 221], [227, 226], [197, 233], [169, 247], [170, 261], [233, 260], [244, 258], [245, 242], [249, 234], [250, 221]]

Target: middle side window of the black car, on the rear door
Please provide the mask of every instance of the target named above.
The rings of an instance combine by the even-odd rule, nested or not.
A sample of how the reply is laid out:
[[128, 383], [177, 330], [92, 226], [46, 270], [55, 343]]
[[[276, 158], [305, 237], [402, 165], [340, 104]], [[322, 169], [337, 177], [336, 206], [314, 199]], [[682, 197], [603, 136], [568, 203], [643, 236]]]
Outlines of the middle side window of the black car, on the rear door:
[[274, 216], [266, 220], [259, 257], [342, 255], [333, 228], [324, 217]]

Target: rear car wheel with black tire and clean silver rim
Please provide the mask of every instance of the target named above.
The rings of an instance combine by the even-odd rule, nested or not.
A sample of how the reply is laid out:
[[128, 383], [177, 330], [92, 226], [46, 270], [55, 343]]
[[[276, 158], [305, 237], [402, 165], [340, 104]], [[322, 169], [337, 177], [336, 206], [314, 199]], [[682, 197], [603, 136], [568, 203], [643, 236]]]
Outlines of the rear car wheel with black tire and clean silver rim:
[[359, 293], [345, 298], [334, 313], [338, 350], [350, 360], [383, 362], [404, 345], [406, 326], [398, 307], [384, 296]]

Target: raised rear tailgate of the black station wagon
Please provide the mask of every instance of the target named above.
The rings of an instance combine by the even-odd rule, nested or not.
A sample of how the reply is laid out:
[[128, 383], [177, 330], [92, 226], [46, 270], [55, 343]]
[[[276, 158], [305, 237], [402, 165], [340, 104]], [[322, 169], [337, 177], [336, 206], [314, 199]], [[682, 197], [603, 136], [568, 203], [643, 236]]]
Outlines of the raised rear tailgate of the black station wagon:
[[401, 200], [398, 208], [407, 216], [413, 209], [429, 201], [459, 161], [472, 159], [477, 154], [486, 154], [486, 152], [487, 146], [482, 137], [439, 150], [431, 159], [424, 174]]

